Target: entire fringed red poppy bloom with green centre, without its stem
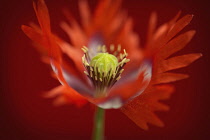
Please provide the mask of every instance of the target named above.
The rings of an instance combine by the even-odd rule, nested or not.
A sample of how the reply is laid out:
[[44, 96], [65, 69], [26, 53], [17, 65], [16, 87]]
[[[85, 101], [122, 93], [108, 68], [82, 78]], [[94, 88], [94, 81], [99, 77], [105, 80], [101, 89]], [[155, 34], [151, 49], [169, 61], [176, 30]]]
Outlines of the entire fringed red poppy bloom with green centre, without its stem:
[[90, 102], [104, 109], [120, 109], [143, 129], [148, 129], [148, 123], [162, 127], [154, 111], [168, 110], [160, 100], [170, 97], [172, 82], [188, 77], [170, 71], [201, 57], [199, 53], [171, 57], [194, 36], [194, 30], [178, 35], [192, 15], [180, 18], [179, 12], [156, 28], [156, 13], [151, 14], [147, 41], [141, 45], [132, 19], [121, 10], [121, 0], [101, 0], [93, 13], [87, 1], [80, 0], [82, 26], [67, 10], [68, 22], [60, 24], [70, 38], [68, 43], [52, 33], [44, 0], [34, 3], [34, 10], [40, 27], [23, 25], [22, 30], [61, 83], [47, 94], [55, 98], [56, 105]]

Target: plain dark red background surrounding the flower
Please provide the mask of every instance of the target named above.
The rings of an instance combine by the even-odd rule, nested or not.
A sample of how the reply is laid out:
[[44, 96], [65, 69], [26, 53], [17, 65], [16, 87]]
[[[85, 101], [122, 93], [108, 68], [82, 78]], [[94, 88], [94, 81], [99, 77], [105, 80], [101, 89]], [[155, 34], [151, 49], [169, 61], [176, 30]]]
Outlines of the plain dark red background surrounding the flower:
[[[96, 0], [89, 1], [91, 7]], [[46, 0], [52, 17], [53, 31], [64, 38], [59, 28], [63, 7], [78, 16], [77, 0]], [[177, 90], [165, 103], [171, 110], [158, 112], [164, 128], [150, 126], [149, 131], [138, 128], [119, 110], [106, 112], [106, 140], [207, 140], [209, 136], [209, 26], [207, 1], [190, 0], [124, 0], [123, 7], [134, 19], [135, 31], [146, 34], [149, 14], [157, 11], [159, 23], [172, 18], [178, 10], [195, 17], [187, 29], [197, 34], [183, 52], [202, 52], [202, 59], [181, 71], [191, 77], [176, 83]], [[67, 105], [52, 106], [42, 92], [59, 83], [51, 78], [49, 67], [39, 59], [31, 41], [20, 29], [22, 24], [36, 22], [32, 0], [1, 0], [1, 107], [0, 140], [86, 140], [92, 131], [93, 109]], [[77, 17], [78, 19], [78, 17]]]

